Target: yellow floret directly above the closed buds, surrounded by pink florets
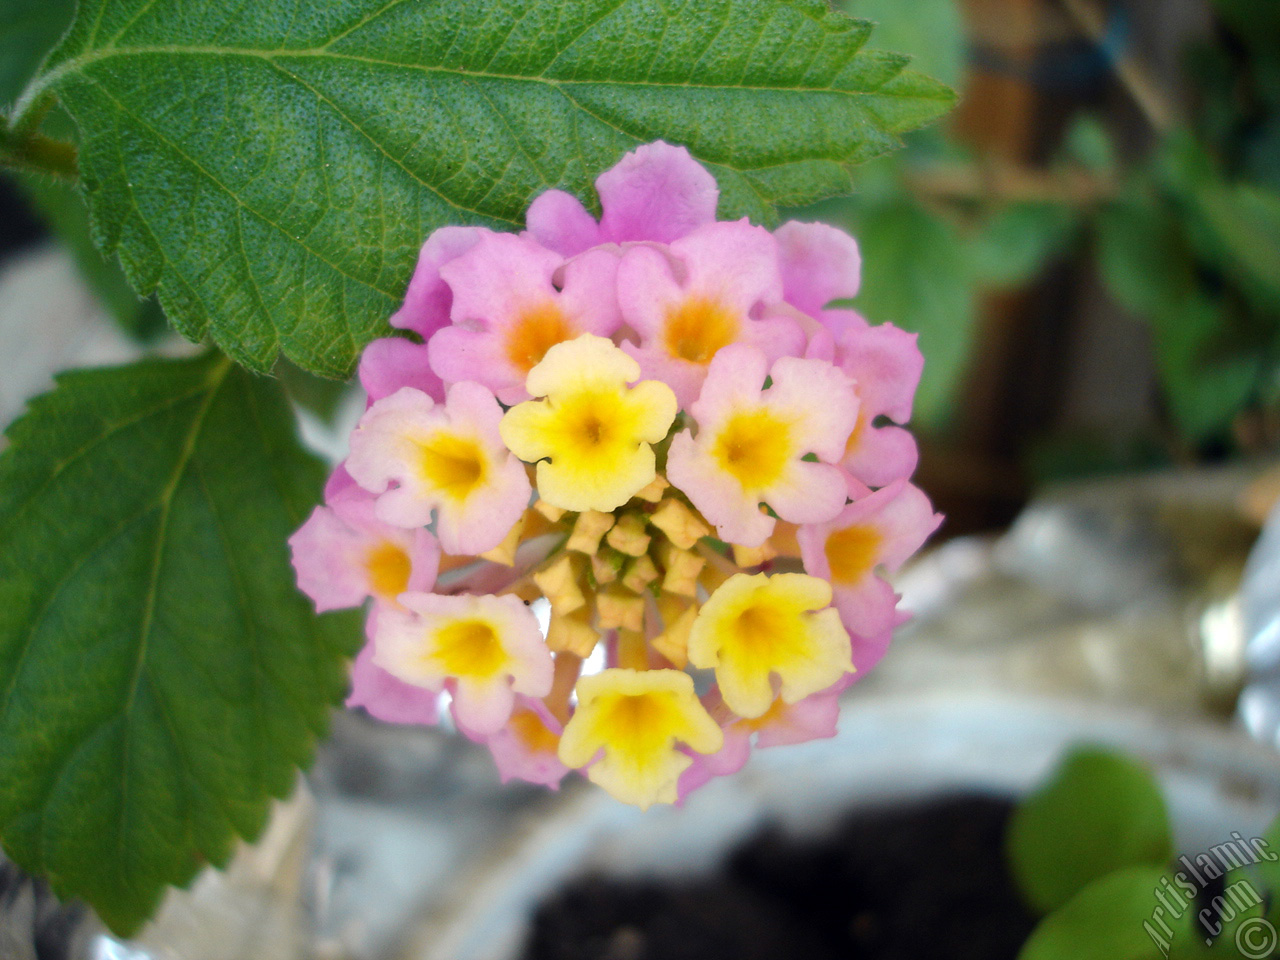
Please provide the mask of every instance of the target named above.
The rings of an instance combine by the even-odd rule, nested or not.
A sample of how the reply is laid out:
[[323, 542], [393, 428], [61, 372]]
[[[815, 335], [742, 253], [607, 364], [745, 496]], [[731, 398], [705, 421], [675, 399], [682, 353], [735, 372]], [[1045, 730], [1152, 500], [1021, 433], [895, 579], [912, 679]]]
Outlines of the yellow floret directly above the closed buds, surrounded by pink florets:
[[650, 444], [676, 419], [676, 396], [639, 379], [640, 365], [604, 337], [558, 343], [525, 383], [544, 401], [517, 403], [502, 419], [502, 439], [538, 462], [538, 493], [568, 511], [621, 507], [657, 476]]

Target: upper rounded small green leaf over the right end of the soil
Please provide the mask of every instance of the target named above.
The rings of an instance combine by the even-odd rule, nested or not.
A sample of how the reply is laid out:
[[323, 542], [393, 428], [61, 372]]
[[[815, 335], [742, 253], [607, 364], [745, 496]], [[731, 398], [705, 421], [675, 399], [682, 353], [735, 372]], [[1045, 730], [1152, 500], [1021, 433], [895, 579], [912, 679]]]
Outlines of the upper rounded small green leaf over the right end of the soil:
[[1019, 805], [1006, 852], [1023, 896], [1041, 913], [1112, 870], [1164, 868], [1172, 854], [1160, 786], [1125, 756], [1075, 750]]

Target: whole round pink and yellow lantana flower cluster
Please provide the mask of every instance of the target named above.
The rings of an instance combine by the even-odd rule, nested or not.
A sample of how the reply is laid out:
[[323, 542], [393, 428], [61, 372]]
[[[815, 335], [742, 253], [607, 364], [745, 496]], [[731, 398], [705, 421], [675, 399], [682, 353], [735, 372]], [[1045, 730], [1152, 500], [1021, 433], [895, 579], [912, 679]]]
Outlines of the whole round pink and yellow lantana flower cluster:
[[[351, 705], [448, 710], [503, 780], [673, 803], [835, 733], [941, 517], [910, 483], [915, 337], [829, 306], [823, 224], [717, 221], [657, 142], [521, 234], [447, 227], [367, 347], [369, 407], [291, 540], [317, 609], [371, 599]], [[539, 621], [539, 608], [543, 611]]]

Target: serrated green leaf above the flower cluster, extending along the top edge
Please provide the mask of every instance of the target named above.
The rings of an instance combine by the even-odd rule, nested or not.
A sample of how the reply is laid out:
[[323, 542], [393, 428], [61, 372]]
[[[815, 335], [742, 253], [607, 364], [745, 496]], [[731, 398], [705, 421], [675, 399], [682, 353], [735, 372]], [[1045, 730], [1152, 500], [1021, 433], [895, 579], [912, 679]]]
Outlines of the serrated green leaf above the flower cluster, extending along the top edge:
[[46, 73], [97, 238], [188, 337], [346, 376], [445, 223], [515, 229], [637, 143], [769, 220], [951, 92], [820, 0], [84, 0]]

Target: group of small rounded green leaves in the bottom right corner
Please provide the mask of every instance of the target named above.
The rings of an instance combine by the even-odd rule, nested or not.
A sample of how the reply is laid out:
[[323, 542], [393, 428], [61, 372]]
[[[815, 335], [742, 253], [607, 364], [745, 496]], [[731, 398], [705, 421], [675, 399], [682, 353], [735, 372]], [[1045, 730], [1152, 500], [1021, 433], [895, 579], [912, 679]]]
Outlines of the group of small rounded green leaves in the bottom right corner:
[[[1265, 840], [1280, 850], [1280, 819]], [[1236, 845], [1234, 856], [1256, 850]], [[1277, 864], [1245, 863], [1224, 877], [1207, 864], [1226, 869], [1236, 860], [1192, 852], [1187, 861], [1204, 874], [1185, 869], [1174, 860], [1160, 785], [1137, 760], [1103, 748], [1068, 754], [1021, 801], [1006, 854], [1023, 897], [1043, 915], [1019, 960], [1228, 960], [1243, 956], [1242, 925], [1258, 923], [1265, 909], [1280, 919]], [[1256, 954], [1263, 955], [1271, 954]]]

